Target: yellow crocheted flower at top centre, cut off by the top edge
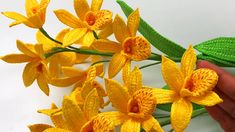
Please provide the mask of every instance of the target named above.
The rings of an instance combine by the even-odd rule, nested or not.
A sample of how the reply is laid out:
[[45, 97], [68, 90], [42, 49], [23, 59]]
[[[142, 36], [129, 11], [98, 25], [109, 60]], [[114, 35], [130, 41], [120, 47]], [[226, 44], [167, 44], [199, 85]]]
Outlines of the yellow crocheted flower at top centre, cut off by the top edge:
[[81, 43], [82, 46], [90, 47], [95, 39], [93, 31], [104, 30], [101, 35], [103, 37], [112, 33], [112, 12], [100, 10], [102, 3], [103, 0], [92, 0], [89, 7], [87, 0], [74, 0], [74, 9], [79, 18], [63, 9], [54, 11], [62, 23], [73, 28], [65, 35], [63, 46]]

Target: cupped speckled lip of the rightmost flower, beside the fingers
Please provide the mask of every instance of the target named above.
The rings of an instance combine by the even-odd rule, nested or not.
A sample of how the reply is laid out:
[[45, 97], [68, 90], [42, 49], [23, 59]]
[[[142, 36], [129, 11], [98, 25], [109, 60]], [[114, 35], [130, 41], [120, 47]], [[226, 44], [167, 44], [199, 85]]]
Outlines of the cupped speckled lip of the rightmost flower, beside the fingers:
[[210, 69], [198, 69], [192, 73], [191, 78], [185, 83], [180, 94], [182, 96], [202, 96], [211, 91], [217, 84], [218, 75]]

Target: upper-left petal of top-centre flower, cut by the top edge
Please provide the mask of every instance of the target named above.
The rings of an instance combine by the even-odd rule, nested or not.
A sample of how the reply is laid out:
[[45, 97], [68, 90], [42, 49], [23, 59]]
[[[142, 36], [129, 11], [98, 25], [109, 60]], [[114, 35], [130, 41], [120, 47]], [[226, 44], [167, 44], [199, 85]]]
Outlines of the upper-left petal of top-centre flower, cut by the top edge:
[[74, 0], [74, 9], [77, 16], [84, 20], [86, 13], [90, 10], [87, 0]]

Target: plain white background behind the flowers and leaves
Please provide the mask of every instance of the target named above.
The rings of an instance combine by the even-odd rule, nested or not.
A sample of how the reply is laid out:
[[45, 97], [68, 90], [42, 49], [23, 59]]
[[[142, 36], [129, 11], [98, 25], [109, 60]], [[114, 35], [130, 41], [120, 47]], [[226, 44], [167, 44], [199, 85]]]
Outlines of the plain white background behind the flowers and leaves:
[[[126, 0], [134, 8], [140, 8], [141, 16], [161, 34], [188, 47], [219, 36], [235, 36], [234, 0]], [[67, 9], [74, 13], [73, 0], [51, 0], [45, 29], [54, 36], [62, 28], [53, 14], [55, 9]], [[124, 16], [115, 0], [104, 0], [103, 9], [110, 9]], [[0, 11], [17, 11], [25, 14], [24, 0], [0, 0]], [[75, 14], [75, 13], [74, 13]], [[24, 25], [8, 28], [10, 19], [0, 15], [0, 56], [17, 53], [15, 41], [35, 43], [35, 29]], [[7, 64], [0, 61], [0, 132], [25, 132], [27, 125], [50, 123], [36, 111], [49, 108], [52, 102], [60, 106], [64, 94], [70, 89], [51, 87], [50, 97], [37, 85], [24, 88], [21, 74], [24, 64]], [[234, 69], [228, 69], [234, 73]], [[160, 67], [143, 70], [144, 84], [161, 87], [164, 82]], [[168, 129], [166, 129], [168, 130]], [[186, 131], [220, 132], [222, 129], [209, 116], [193, 119]]]

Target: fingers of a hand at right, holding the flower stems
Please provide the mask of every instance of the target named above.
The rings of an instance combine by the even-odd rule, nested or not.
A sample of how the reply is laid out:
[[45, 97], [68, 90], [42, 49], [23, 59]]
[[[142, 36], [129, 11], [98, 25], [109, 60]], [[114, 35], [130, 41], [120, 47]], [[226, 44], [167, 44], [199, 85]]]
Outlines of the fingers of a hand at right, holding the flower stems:
[[198, 62], [197, 67], [214, 70], [219, 75], [214, 91], [223, 103], [206, 109], [226, 132], [235, 132], [235, 77], [207, 61]]

